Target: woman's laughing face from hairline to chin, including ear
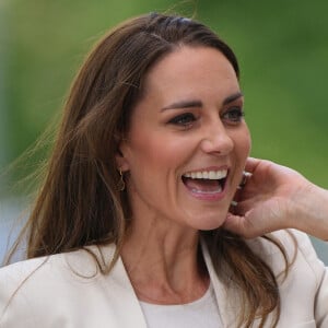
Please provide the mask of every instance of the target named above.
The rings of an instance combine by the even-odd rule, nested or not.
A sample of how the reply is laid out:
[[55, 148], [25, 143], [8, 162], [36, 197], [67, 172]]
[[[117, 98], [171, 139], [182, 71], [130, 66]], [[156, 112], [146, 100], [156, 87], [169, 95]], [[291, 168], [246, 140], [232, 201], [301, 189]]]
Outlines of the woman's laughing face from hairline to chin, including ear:
[[249, 149], [243, 95], [229, 60], [208, 47], [167, 55], [148, 73], [120, 148], [133, 220], [219, 227]]

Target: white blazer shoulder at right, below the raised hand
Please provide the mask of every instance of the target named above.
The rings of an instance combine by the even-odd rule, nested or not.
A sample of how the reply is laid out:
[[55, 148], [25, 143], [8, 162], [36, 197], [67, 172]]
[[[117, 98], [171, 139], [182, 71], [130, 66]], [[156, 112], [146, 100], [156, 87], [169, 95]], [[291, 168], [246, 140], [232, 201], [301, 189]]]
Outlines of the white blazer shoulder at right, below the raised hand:
[[256, 238], [248, 243], [270, 266], [277, 278], [281, 300], [281, 326], [316, 323], [318, 327], [324, 327], [328, 324], [328, 274], [309, 237], [295, 230], [279, 231], [271, 237], [283, 247], [285, 258], [279, 247], [269, 241]]

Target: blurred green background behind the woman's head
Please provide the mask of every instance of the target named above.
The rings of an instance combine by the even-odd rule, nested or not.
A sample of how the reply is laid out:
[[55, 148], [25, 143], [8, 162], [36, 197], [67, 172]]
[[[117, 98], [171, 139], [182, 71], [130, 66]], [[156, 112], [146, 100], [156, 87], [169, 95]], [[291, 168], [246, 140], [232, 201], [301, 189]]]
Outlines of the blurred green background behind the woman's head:
[[[108, 28], [168, 9], [195, 13], [235, 50], [251, 154], [328, 188], [326, 0], [0, 0], [1, 171], [54, 122], [77, 69]], [[26, 174], [20, 167], [2, 176], [2, 198], [12, 196], [3, 186]]]

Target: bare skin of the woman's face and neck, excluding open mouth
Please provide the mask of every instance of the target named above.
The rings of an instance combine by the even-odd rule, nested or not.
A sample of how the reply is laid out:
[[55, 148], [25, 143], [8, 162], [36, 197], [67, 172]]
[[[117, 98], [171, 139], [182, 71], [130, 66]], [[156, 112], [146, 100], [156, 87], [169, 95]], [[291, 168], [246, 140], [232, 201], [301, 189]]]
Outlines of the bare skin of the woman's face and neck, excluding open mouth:
[[[216, 49], [183, 46], [148, 73], [117, 164], [132, 207], [122, 260], [138, 297], [157, 304], [201, 297], [209, 279], [199, 230], [221, 226], [250, 149], [243, 96]], [[227, 168], [222, 192], [199, 196], [181, 176]]]

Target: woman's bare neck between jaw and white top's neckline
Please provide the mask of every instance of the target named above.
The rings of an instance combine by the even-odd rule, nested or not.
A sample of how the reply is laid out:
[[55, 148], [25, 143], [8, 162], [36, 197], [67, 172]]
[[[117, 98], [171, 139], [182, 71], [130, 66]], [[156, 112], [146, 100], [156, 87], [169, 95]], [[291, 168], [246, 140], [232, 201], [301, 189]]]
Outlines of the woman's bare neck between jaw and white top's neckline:
[[140, 301], [189, 303], [208, 289], [198, 231], [159, 220], [132, 224], [121, 257]]

